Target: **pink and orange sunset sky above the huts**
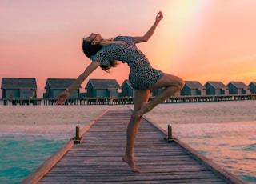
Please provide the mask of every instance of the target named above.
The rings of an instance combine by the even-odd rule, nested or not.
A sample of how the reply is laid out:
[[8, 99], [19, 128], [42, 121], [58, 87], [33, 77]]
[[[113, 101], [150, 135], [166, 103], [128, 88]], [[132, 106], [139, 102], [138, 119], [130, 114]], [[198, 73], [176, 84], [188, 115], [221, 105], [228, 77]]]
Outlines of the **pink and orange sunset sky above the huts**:
[[[83, 37], [141, 36], [159, 10], [162, 22], [138, 45], [152, 66], [202, 85], [256, 81], [255, 0], [1, 0], [0, 78], [36, 78], [42, 97], [47, 78], [77, 78], [90, 63]], [[128, 78], [126, 64], [110, 71], [90, 78]]]

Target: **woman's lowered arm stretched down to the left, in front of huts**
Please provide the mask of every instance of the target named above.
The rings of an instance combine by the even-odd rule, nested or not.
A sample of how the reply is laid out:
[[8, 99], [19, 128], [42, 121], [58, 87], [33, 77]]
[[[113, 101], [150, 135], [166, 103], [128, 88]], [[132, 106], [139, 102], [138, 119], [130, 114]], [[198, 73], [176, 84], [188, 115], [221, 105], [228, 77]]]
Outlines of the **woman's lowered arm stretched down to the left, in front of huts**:
[[61, 94], [58, 94], [57, 96], [57, 104], [64, 104], [66, 102], [66, 99], [69, 98], [70, 93], [73, 90], [78, 89], [78, 86], [86, 80], [86, 78], [96, 69], [98, 68], [100, 64], [98, 62], [90, 62], [90, 65], [86, 67], [86, 70], [82, 74], [78, 76], [78, 78]]

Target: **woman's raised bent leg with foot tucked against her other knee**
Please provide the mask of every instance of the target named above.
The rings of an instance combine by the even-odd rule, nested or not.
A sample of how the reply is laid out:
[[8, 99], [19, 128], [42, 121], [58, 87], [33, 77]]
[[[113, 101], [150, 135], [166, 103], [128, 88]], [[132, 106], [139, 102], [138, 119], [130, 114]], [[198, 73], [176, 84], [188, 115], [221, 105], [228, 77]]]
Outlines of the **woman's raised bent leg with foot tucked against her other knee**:
[[142, 108], [136, 112], [135, 116], [141, 117], [143, 114], [146, 114], [146, 112], [152, 110], [155, 106], [169, 98], [171, 95], [174, 95], [178, 90], [182, 90], [183, 86], [184, 82], [182, 78], [178, 78], [171, 74], [165, 74], [158, 80], [158, 82], [154, 83], [154, 85], [150, 87], [150, 90], [161, 87], [165, 87], [165, 89], [163, 89], [151, 102], [144, 103]]

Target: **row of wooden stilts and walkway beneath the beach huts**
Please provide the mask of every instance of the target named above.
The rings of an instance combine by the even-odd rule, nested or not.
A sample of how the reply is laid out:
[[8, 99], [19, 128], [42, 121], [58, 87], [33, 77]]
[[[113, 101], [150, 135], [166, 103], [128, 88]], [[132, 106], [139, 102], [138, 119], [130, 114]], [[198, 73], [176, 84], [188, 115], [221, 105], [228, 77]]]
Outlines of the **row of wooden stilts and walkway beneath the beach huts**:
[[[150, 97], [152, 100], [154, 97]], [[41, 105], [43, 101], [44, 106], [56, 105], [56, 98], [3, 98], [3, 105]], [[173, 96], [166, 99], [163, 103], [187, 103], [187, 102], [222, 102], [222, 101], [242, 101], [242, 100], [256, 100], [256, 94], [228, 94], [228, 95], [205, 95], [205, 96]], [[69, 98], [66, 100], [65, 105], [128, 105], [133, 104], [133, 97], [106, 97], [106, 98]]]

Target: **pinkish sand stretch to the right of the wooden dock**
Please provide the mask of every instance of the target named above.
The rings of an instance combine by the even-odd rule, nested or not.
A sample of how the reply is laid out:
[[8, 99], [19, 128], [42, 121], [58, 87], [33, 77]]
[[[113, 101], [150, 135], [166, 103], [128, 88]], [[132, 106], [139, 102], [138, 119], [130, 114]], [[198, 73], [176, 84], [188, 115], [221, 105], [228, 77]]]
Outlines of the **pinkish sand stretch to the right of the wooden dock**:
[[178, 138], [254, 136], [256, 101], [161, 104], [145, 115]]

